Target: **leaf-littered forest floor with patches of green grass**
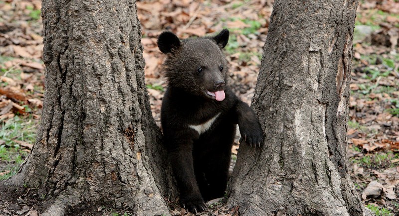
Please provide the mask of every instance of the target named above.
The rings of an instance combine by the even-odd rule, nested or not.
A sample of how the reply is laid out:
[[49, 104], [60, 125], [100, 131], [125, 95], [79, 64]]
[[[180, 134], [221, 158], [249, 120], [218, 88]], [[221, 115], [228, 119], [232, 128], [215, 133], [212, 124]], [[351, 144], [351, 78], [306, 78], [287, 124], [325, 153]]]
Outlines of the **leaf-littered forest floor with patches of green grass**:
[[[157, 36], [231, 32], [225, 48], [230, 85], [251, 102], [273, 0], [141, 0], [145, 75], [157, 124], [166, 87]], [[18, 171], [40, 123], [44, 96], [41, 0], [0, 0], [0, 180]], [[364, 204], [377, 216], [399, 216], [399, 2], [361, 0], [354, 33], [348, 166]], [[234, 146], [233, 159], [238, 145]], [[4, 203], [0, 201], [0, 208]], [[175, 207], [171, 204], [172, 207]], [[21, 213], [22, 212], [22, 213]], [[112, 210], [105, 215], [124, 215]], [[10, 215], [26, 215], [23, 210]], [[33, 212], [34, 213], [34, 212]], [[30, 210], [30, 215], [33, 214]], [[192, 215], [179, 207], [173, 215]], [[223, 201], [198, 215], [230, 216]], [[127, 215], [127, 214], [125, 214]]]

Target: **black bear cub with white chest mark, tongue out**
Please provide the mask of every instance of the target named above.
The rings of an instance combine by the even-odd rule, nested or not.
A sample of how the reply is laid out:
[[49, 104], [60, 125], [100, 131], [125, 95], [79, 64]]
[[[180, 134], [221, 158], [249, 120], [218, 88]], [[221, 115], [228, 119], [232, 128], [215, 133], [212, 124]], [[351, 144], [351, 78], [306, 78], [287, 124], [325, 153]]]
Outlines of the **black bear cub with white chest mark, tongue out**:
[[180, 205], [190, 212], [206, 209], [204, 201], [223, 197], [231, 147], [238, 124], [251, 146], [260, 146], [263, 131], [253, 110], [227, 85], [227, 61], [221, 51], [229, 31], [214, 37], [179, 40], [163, 32], [158, 47], [168, 89], [161, 122], [180, 192]]

